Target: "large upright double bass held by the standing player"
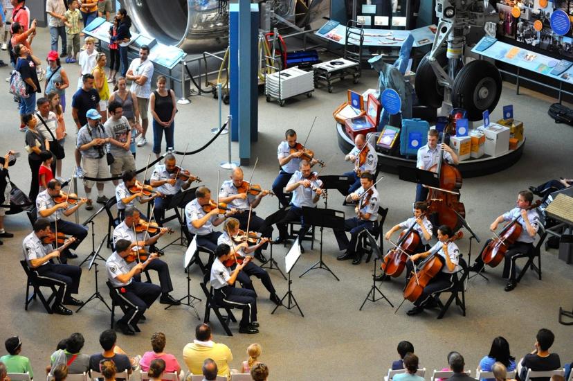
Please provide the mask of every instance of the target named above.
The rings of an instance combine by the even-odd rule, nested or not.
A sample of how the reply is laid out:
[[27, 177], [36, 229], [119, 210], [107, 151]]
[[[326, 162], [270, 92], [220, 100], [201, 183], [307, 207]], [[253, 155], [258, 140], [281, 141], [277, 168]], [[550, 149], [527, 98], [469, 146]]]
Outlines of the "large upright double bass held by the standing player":
[[455, 232], [462, 227], [462, 222], [457, 214], [465, 217], [466, 207], [460, 202], [459, 190], [462, 188], [462, 174], [460, 170], [444, 160], [444, 148], [442, 148], [444, 134], [446, 134], [446, 130], [444, 130], [442, 142], [440, 142], [439, 161], [429, 169], [431, 172], [437, 173], [439, 188], [428, 187], [430, 191], [426, 202], [428, 203], [428, 213], [433, 216], [430, 221], [435, 222], [437, 226], [448, 225]]

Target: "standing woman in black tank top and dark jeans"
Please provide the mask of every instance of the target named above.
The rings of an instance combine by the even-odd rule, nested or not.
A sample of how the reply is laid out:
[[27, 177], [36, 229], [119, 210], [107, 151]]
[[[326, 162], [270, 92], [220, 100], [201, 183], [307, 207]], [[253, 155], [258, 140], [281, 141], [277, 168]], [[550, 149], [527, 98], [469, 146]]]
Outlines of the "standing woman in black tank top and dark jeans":
[[165, 132], [165, 151], [174, 148], [175, 113], [177, 100], [172, 89], [167, 89], [167, 78], [157, 77], [157, 90], [149, 98], [153, 116], [153, 152], [157, 158], [161, 154], [161, 140]]

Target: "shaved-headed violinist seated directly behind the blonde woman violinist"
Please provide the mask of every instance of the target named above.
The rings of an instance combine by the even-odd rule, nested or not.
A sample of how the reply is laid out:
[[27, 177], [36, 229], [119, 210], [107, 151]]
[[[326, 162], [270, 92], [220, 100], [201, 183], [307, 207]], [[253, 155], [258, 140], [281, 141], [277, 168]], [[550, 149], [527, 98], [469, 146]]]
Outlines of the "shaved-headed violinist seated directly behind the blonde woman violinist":
[[[230, 207], [237, 209], [237, 213], [233, 216], [239, 220], [239, 228], [246, 230], [258, 231], [263, 237], [271, 238], [273, 235], [273, 227], [267, 227], [264, 220], [260, 218], [256, 212], [251, 211], [251, 219], [249, 220], [249, 209], [255, 209], [259, 206], [262, 198], [269, 195], [269, 190], [261, 190], [258, 195], [249, 193], [251, 184], [244, 181], [243, 170], [239, 167], [235, 168], [230, 175], [230, 180], [223, 181], [221, 189], [219, 190], [219, 202], [224, 202]], [[262, 245], [255, 250], [255, 258], [262, 263], [266, 263], [266, 258], [262, 254], [262, 250], [266, 249], [268, 244]]]

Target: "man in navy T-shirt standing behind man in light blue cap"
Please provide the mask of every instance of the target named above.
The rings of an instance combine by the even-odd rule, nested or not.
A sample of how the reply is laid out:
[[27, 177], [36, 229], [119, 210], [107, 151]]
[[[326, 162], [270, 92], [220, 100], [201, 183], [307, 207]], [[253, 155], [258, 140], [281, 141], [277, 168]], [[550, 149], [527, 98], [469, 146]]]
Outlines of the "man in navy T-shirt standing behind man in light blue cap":
[[[75, 128], [79, 131], [82, 126], [86, 125], [86, 114], [90, 109], [100, 109], [100, 94], [96, 89], [93, 89], [93, 76], [91, 73], [82, 76], [83, 86], [78, 91], [75, 91], [72, 98], [72, 118], [75, 123]], [[80, 165], [80, 150], [75, 150], [75, 175], [82, 177], [84, 172]]]

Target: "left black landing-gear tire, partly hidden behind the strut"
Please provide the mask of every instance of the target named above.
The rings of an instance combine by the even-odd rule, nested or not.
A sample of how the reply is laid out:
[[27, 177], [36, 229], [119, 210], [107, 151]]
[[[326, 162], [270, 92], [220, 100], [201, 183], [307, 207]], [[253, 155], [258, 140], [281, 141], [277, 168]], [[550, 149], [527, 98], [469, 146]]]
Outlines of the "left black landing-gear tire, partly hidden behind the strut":
[[[442, 107], [444, 101], [444, 87], [438, 85], [434, 69], [428, 61], [428, 55], [420, 61], [418, 69], [416, 69], [415, 89], [418, 101], [421, 105], [428, 107]], [[448, 71], [448, 58], [446, 57], [446, 48], [439, 48], [436, 60], [439, 66]]]

